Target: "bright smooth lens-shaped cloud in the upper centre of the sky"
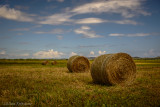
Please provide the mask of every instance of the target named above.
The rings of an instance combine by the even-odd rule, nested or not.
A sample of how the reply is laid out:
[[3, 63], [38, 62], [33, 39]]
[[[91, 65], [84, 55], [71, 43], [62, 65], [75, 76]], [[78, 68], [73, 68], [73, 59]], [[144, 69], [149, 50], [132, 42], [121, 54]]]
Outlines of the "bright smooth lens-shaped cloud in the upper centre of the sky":
[[79, 19], [75, 21], [75, 23], [77, 24], [96, 24], [96, 23], [103, 23], [103, 22], [107, 22], [107, 21], [100, 18], [84, 18], [84, 19]]

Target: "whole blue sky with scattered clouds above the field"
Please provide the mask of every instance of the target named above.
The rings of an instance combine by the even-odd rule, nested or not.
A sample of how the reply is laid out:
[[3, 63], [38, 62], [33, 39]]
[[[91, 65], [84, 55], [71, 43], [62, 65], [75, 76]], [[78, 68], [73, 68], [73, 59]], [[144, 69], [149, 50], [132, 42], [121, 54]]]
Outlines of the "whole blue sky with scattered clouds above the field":
[[0, 58], [160, 56], [159, 0], [0, 0]]

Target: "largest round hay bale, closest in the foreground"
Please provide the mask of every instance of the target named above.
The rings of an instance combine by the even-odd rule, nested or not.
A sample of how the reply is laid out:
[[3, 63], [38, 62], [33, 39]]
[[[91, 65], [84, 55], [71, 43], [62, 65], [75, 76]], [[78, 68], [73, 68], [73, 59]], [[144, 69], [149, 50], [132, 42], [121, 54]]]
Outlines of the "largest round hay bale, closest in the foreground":
[[126, 53], [101, 55], [91, 65], [93, 82], [106, 85], [129, 85], [136, 77], [136, 65]]

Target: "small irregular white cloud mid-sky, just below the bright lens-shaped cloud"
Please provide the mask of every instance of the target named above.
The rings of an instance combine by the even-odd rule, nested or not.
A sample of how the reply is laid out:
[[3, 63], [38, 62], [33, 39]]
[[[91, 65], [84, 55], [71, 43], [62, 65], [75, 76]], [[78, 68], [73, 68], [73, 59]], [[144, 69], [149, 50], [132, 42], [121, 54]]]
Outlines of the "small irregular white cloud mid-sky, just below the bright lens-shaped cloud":
[[101, 35], [97, 35], [94, 31], [91, 31], [90, 27], [88, 27], [88, 26], [85, 26], [85, 27], [82, 26], [79, 29], [75, 29], [74, 32], [76, 34], [83, 34], [83, 37], [85, 37], [85, 38], [99, 38], [99, 37], [102, 37]]

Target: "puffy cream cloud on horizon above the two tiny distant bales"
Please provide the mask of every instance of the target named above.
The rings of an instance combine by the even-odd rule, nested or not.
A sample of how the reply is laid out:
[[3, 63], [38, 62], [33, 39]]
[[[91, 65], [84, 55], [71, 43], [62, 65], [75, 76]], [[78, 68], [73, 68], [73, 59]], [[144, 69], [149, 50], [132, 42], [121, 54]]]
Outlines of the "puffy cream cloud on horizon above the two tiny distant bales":
[[62, 52], [58, 52], [58, 51], [54, 51], [53, 49], [48, 50], [48, 51], [39, 51], [33, 54], [34, 58], [59, 58], [62, 55], [64, 55], [64, 53]]

